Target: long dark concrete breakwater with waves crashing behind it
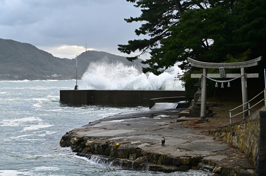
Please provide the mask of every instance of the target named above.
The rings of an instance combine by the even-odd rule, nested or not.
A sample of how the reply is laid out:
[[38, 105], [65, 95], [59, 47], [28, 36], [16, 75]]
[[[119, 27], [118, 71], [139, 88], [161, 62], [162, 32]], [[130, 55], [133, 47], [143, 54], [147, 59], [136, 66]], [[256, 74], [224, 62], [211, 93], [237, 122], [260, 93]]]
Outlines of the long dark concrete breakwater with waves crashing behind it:
[[183, 97], [185, 93], [165, 90], [60, 90], [60, 101], [76, 105], [149, 106], [149, 99]]

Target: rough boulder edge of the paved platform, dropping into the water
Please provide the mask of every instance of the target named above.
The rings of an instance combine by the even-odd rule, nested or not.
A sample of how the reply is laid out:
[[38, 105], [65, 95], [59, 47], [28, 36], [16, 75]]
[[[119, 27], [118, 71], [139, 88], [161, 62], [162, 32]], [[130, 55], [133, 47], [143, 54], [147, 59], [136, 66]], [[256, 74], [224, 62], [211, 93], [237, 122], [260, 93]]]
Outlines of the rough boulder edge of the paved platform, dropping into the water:
[[[141, 148], [131, 143], [123, 143], [122, 146], [116, 146], [115, 141], [109, 141], [105, 138], [74, 137], [65, 134], [60, 141], [61, 147], [71, 147], [78, 156], [91, 158], [93, 154], [100, 156], [101, 161], [106, 161], [114, 166], [123, 166], [126, 168], [145, 169], [150, 171], [187, 171], [189, 169], [199, 169], [198, 164], [203, 157], [177, 156], [170, 157], [160, 153], [151, 153], [143, 151]], [[105, 159], [104, 157], [107, 157]], [[204, 162], [205, 160], [203, 160]], [[205, 161], [207, 163], [207, 161]], [[216, 164], [213, 164], [216, 166]], [[200, 168], [213, 170], [214, 166], [200, 164]]]

